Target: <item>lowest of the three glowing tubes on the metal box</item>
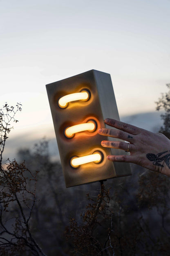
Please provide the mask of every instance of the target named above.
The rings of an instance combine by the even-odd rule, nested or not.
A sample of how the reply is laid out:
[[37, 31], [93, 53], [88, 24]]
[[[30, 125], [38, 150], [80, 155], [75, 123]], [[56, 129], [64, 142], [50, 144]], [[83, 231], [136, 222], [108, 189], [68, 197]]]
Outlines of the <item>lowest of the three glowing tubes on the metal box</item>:
[[71, 159], [70, 164], [72, 167], [77, 168], [79, 165], [87, 164], [89, 162], [96, 162], [99, 163], [102, 161], [102, 154], [96, 152], [92, 155], [85, 155], [82, 157], [74, 157]]

